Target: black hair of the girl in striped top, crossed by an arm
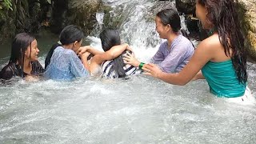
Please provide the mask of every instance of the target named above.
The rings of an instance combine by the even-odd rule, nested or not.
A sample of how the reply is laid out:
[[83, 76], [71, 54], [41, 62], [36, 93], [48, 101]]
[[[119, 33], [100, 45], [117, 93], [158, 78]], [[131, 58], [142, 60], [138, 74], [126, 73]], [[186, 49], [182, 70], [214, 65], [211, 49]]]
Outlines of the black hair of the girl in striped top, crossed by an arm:
[[[102, 33], [99, 35], [102, 41], [102, 49], [104, 51], [110, 50], [113, 46], [118, 46], [121, 44], [121, 39], [118, 33], [118, 30], [116, 29], [105, 29], [102, 31]], [[126, 51], [124, 51], [122, 54], [125, 54]], [[118, 78], [124, 78], [126, 77], [126, 71], [123, 69], [123, 66], [126, 66], [126, 64], [123, 62], [122, 54], [118, 56], [118, 58], [113, 59], [113, 70], [115, 70], [116, 73], [118, 73]]]

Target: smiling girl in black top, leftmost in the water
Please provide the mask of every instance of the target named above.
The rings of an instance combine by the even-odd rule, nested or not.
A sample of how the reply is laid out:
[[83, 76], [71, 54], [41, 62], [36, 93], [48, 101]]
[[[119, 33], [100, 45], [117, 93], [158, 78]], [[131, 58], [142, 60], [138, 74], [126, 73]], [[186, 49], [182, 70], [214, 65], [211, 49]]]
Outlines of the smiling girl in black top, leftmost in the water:
[[0, 79], [9, 80], [14, 76], [42, 74], [44, 69], [38, 62], [38, 42], [30, 34], [17, 34], [12, 42], [9, 63], [1, 70]]

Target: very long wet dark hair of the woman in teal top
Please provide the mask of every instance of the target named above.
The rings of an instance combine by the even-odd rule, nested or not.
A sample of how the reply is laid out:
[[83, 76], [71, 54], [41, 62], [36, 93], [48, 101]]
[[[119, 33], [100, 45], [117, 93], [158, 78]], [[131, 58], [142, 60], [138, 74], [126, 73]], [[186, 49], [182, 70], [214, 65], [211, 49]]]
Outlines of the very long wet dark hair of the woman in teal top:
[[226, 56], [232, 60], [239, 82], [247, 82], [246, 49], [244, 37], [238, 20], [236, 0], [198, 0], [198, 4], [205, 6], [208, 14], [206, 18], [218, 31], [218, 38], [224, 47]]

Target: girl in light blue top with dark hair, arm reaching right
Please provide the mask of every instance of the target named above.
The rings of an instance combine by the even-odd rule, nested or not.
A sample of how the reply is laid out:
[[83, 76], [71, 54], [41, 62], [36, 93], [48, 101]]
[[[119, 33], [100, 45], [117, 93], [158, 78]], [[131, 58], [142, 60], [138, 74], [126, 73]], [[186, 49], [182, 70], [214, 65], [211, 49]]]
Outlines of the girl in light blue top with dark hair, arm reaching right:
[[[46, 72], [44, 74], [46, 78], [72, 80], [89, 77], [90, 72], [94, 70], [95, 63], [101, 64], [106, 60], [116, 58], [126, 50], [126, 46], [123, 45], [103, 53], [90, 46], [81, 47], [82, 38], [84, 38], [84, 34], [78, 26], [70, 25], [62, 30], [59, 36], [61, 44], [54, 45], [46, 56]], [[87, 61], [89, 52], [94, 54], [94, 58], [90, 61], [91, 66]]]

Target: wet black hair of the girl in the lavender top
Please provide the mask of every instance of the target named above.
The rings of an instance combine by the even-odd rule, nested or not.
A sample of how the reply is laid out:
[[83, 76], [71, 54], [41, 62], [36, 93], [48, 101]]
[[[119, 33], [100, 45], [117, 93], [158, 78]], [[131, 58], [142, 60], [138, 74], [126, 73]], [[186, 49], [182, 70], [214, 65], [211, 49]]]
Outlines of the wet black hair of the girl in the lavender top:
[[[180, 31], [184, 37], [190, 40], [189, 35], [186, 33], [186, 30], [182, 29], [181, 18], [179, 17], [177, 10], [174, 10], [174, 9], [161, 10], [158, 12], [156, 16], [161, 19], [161, 22], [164, 26], [169, 24], [172, 30], [174, 31], [174, 33], [178, 33]], [[193, 43], [192, 45], [194, 46]]]

